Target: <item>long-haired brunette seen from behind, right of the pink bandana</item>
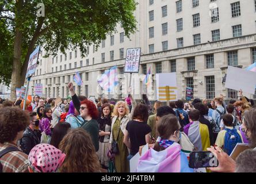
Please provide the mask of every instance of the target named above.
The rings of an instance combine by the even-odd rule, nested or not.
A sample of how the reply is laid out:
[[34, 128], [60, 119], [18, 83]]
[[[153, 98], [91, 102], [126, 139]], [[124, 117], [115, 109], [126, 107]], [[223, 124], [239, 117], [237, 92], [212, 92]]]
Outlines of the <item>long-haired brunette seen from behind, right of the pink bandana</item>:
[[71, 129], [59, 144], [66, 154], [61, 173], [94, 173], [100, 171], [100, 162], [91, 136], [82, 128]]

